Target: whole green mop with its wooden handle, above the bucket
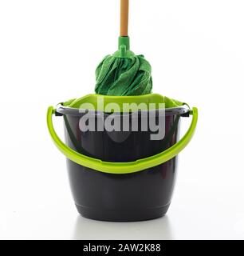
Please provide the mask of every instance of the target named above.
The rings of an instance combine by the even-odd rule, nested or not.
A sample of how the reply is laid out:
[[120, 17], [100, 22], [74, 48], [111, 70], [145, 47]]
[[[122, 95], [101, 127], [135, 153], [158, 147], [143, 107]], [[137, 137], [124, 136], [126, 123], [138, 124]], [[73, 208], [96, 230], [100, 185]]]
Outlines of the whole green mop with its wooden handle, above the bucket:
[[143, 55], [130, 50], [128, 0], [121, 1], [119, 50], [96, 68], [96, 94], [132, 96], [152, 93], [152, 67]]

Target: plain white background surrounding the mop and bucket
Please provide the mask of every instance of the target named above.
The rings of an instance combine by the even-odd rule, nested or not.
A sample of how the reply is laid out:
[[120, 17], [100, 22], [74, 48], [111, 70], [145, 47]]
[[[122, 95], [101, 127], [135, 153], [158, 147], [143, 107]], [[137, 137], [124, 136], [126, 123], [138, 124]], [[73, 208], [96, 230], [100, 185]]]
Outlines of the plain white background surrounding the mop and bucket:
[[180, 154], [166, 217], [108, 223], [77, 214], [45, 112], [93, 92], [96, 65], [116, 50], [119, 7], [0, 2], [0, 238], [243, 239], [242, 0], [131, 1], [132, 50], [151, 62], [155, 93], [199, 107], [198, 130]]

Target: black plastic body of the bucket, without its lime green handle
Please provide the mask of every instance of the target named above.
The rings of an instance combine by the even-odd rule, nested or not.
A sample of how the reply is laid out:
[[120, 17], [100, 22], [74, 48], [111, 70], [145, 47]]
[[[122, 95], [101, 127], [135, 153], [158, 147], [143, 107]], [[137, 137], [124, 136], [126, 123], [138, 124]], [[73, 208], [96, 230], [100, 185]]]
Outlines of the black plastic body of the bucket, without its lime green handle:
[[[104, 163], [128, 163], [150, 159], [170, 150], [179, 142], [181, 117], [189, 117], [191, 111], [184, 106], [165, 109], [165, 136], [161, 140], [151, 140], [152, 131], [132, 131], [131, 126], [126, 132], [84, 132], [80, 129], [84, 115], [81, 111], [59, 105], [53, 113], [64, 117], [66, 146], [71, 150]], [[160, 111], [155, 113], [159, 119]], [[103, 113], [101, 119], [100, 111], [92, 114], [96, 123], [110, 116]], [[140, 124], [143, 115], [139, 113], [136, 118]], [[123, 126], [123, 114], [120, 120]], [[67, 166], [74, 202], [82, 216], [102, 221], [134, 222], [159, 218], [167, 213], [175, 186], [177, 155], [167, 162], [128, 174], [94, 170], [69, 158]]]

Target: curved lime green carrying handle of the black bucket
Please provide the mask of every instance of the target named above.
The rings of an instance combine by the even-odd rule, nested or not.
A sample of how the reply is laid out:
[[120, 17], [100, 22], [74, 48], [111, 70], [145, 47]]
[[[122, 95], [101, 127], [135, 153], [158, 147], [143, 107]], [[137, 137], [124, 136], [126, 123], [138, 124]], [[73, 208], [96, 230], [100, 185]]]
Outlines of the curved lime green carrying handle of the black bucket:
[[55, 110], [53, 106], [49, 106], [47, 111], [47, 126], [49, 129], [49, 134], [53, 138], [54, 144], [57, 148], [65, 155], [69, 160], [76, 162], [81, 166], [88, 167], [93, 170], [98, 170], [102, 173], [107, 174], [132, 174], [139, 172], [141, 170], [146, 170], [154, 166], [159, 166], [163, 162], [167, 162], [171, 158], [175, 158], [191, 141], [195, 133], [195, 128], [198, 122], [198, 109], [193, 107], [190, 111], [192, 115], [191, 126], [187, 130], [187, 133], [175, 143], [174, 146], [171, 146], [169, 149], [155, 154], [149, 158], [143, 158], [135, 162], [103, 162], [100, 159], [90, 158], [84, 154], [77, 153], [77, 151], [72, 150], [69, 146], [66, 146], [64, 142], [57, 136], [54, 127], [53, 127], [53, 114]]

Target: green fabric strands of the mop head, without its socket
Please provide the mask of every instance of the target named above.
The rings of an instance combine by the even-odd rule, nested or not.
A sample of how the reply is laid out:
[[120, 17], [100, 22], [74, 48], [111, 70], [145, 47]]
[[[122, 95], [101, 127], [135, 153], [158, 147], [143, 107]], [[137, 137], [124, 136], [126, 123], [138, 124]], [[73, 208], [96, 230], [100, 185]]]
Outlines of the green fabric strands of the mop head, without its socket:
[[96, 94], [132, 96], [152, 93], [152, 67], [143, 55], [106, 56], [96, 68]]

